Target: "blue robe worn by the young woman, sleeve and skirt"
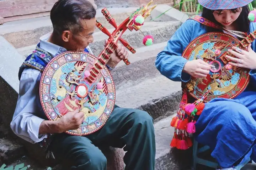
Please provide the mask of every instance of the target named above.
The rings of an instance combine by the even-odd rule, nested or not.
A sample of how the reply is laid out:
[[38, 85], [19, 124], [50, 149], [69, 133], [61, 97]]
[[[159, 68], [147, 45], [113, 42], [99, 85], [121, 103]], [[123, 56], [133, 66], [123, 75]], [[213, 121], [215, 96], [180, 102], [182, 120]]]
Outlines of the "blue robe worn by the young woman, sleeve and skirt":
[[[207, 26], [188, 19], [167, 42], [155, 61], [156, 68], [172, 81], [187, 82], [191, 76], [182, 72], [187, 60], [181, 57], [185, 48], [198, 36], [207, 33]], [[255, 30], [250, 24], [250, 32]], [[256, 42], [252, 42], [256, 51]], [[234, 99], [215, 98], [206, 103], [197, 120], [195, 139], [212, 149], [212, 157], [222, 168], [240, 164], [250, 157], [256, 162], [256, 70], [250, 70], [246, 90]], [[242, 161], [241, 161], [242, 160]]]

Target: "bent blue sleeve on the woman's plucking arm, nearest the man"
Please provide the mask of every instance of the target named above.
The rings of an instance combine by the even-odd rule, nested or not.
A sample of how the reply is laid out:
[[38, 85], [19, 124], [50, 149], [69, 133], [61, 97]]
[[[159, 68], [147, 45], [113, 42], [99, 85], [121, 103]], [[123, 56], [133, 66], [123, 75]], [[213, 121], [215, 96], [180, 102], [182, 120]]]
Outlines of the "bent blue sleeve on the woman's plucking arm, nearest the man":
[[191, 75], [182, 72], [188, 60], [181, 57], [181, 55], [191, 42], [194, 22], [192, 19], [184, 22], [167, 42], [165, 49], [156, 57], [156, 68], [162, 75], [172, 81], [187, 82], [191, 78]]

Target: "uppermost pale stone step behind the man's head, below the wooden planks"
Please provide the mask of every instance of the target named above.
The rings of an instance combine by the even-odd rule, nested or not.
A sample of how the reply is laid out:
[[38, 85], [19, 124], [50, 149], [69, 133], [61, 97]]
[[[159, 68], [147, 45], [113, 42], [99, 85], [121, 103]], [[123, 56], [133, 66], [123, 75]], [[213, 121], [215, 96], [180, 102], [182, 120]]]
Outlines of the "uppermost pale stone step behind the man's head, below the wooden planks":
[[[114, 7], [108, 8], [117, 24], [121, 24], [138, 7]], [[102, 8], [97, 9], [96, 18], [106, 28], [113, 28], [101, 13]], [[151, 18], [148, 17], [146, 21]], [[32, 19], [23, 19], [20, 21], [7, 22], [0, 26], [0, 35], [9, 41], [15, 48], [21, 48], [37, 44], [39, 37], [52, 32], [53, 27], [50, 17], [38, 17]], [[96, 29], [96, 32], [99, 32]]]

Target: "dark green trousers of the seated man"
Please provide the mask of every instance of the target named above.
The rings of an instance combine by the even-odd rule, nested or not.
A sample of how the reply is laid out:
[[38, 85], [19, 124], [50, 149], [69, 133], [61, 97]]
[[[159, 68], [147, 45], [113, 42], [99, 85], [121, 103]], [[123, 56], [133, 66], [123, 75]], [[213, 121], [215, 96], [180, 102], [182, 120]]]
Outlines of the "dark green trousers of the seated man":
[[125, 170], [155, 168], [153, 118], [147, 112], [116, 106], [100, 130], [86, 136], [58, 134], [50, 149], [56, 157], [69, 159], [71, 170], [106, 170], [107, 160], [98, 145], [125, 146]]

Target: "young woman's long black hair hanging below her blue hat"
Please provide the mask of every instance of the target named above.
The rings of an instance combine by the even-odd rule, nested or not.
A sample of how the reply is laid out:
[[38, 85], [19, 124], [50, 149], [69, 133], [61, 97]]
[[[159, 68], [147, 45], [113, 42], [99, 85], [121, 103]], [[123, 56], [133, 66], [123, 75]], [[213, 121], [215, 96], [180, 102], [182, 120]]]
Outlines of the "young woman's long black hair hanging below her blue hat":
[[[239, 8], [232, 9], [231, 11], [232, 12], [240, 12]], [[213, 12], [214, 12], [214, 10], [209, 10], [207, 8], [203, 8], [202, 17], [214, 22], [215, 24], [220, 25], [220, 23], [218, 23], [216, 21], [216, 19], [214, 18]], [[249, 12], [250, 12], [250, 10], [247, 5], [242, 7], [242, 11], [241, 11], [239, 17], [235, 21], [239, 25], [238, 30], [236, 30], [236, 31], [244, 32], [247, 34], [250, 33], [250, 27], [249, 27], [250, 21], [248, 19]], [[206, 29], [207, 29], [207, 32], [222, 32], [222, 30], [214, 29], [214, 28], [208, 27], [208, 26], [206, 26]]]

